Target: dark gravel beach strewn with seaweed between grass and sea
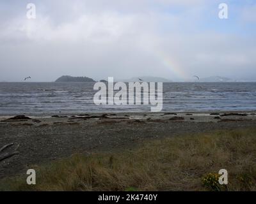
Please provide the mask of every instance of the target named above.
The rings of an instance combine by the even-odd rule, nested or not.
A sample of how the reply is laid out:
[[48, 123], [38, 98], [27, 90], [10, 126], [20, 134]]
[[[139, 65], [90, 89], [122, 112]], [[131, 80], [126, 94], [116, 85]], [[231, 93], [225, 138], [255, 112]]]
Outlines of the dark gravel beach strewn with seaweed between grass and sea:
[[[28, 115], [26, 115], [28, 116]], [[88, 113], [0, 117], [0, 147], [19, 154], [0, 162], [0, 178], [74, 153], [131, 149], [143, 140], [218, 129], [255, 128], [255, 112]]]

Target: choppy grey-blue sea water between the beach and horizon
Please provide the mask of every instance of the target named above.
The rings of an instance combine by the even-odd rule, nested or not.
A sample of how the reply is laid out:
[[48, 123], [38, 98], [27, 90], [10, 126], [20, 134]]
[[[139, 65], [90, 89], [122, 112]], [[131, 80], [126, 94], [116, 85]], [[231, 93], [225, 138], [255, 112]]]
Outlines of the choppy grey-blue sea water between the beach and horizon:
[[[0, 115], [150, 112], [151, 105], [93, 103], [94, 83], [0, 83]], [[164, 83], [163, 111], [256, 110], [256, 83]]]

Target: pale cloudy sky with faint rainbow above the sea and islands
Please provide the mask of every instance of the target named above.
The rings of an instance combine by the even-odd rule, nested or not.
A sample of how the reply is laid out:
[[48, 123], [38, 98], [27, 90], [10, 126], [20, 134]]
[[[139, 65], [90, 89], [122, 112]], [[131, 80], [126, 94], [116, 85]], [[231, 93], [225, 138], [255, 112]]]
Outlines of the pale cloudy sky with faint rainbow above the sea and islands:
[[[227, 19], [219, 18], [221, 3]], [[255, 0], [1, 0], [0, 82], [256, 80], [255, 37]]]

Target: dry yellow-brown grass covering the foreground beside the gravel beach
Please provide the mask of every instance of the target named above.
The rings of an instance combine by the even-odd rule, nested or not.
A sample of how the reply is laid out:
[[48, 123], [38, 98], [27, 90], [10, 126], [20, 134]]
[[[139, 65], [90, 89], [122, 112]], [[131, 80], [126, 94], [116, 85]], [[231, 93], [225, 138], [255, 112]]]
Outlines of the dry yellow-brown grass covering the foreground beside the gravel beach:
[[[0, 181], [10, 191], [255, 191], [256, 129], [182, 135], [118, 153], [74, 155]], [[228, 185], [216, 184], [228, 171]]]

